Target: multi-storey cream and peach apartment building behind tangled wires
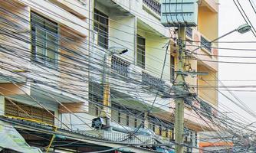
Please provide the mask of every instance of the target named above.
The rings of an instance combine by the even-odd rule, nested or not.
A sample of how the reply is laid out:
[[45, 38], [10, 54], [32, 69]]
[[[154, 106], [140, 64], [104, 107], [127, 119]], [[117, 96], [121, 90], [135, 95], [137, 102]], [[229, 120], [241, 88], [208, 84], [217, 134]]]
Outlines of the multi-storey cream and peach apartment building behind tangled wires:
[[[60, 129], [58, 137], [45, 135], [48, 141], [41, 144], [37, 138], [22, 132], [24, 129], [18, 129], [29, 145], [38, 147], [51, 144], [51, 138], [60, 141], [59, 144], [53, 142], [54, 145], [63, 145], [64, 138], [60, 135], [64, 133], [70, 133], [70, 137], [65, 138], [71, 143], [77, 134], [79, 138], [81, 135], [98, 138], [99, 133], [109, 142], [120, 142], [120, 138], [126, 142], [127, 135], [134, 131], [138, 135], [128, 137], [130, 143], [172, 142], [175, 103], [170, 93], [176, 77], [176, 34], [174, 28], [161, 24], [160, 8], [157, 0], [2, 2], [2, 119], [25, 121], [28, 125], [37, 122], [53, 131], [55, 127]], [[187, 49], [194, 50], [215, 37], [218, 37], [218, 2], [202, 0], [198, 27], [186, 28]], [[214, 56], [218, 50], [215, 44], [211, 45], [195, 50], [199, 60], [189, 60], [190, 70], [208, 73], [186, 78], [204, 101], [192, 102], [199, 108], [200, 105], [218, 107], [217, 92], [200, 88], [217, 85], [218, 63], [208, 60], [218, 61]], [[126, 53], [112, 50], [126, 50]], [[104, 106], [107, 87], [108, 103]], [[210, 106], [208, 111], [215, 113]], [[109, 129], [95, 130], [92, 120], [102, 116], [103, 108]], [[184, 116], [184, 140], [191, 146], [185, 151], [194, 152], [192, 148], [198, 146], [197, 132], [212, 129], [189, 105]], [[79, 141], [80, 148], [49, 145], [49, 149], [98, 151], [122, 146]], [[172, 151], [173, 147], [129, 149], [150, 152]]]

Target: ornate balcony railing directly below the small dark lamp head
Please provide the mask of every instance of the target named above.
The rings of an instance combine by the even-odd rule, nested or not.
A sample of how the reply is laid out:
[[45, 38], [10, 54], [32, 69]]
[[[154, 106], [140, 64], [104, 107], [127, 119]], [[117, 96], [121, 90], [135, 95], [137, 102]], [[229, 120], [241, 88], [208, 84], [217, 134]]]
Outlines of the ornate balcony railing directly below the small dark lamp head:
[[117, 73], [128, 77], [130, 63], [122, 60], [120, 57], [113, 56], [111, 59], [111, 68], [116, 70]]

